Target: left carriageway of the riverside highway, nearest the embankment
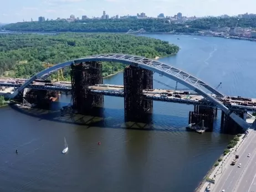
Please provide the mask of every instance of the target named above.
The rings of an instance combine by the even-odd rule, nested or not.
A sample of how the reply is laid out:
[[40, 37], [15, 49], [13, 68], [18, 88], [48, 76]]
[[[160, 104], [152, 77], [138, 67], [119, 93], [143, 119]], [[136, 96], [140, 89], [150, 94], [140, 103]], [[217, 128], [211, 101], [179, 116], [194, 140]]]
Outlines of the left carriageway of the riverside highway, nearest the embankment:
[[[246, 164], [249, 162], [247, 157], [248, 153], [253, 154], [255, 147], [252, 143], [256, 139], [256, 132], [252, 131], [247, 138], [245, 138], [242, 146], [239, 147], [236, 154], [239, 155], [239, 159], [235, 165], [230, 165], [235, 154], [229, 159], [227, 164], [224, 166], [221, 178], [217, 180], [214, 185], [213, 192], [219, 192], [225, 189], [226, 191], [234, 191], [235, 186], [237, 186], [240, 175], [243, 174], [243, 170], [246, 168]], [[238, 168], [238, 164], [242, 163], [241, 168]]]

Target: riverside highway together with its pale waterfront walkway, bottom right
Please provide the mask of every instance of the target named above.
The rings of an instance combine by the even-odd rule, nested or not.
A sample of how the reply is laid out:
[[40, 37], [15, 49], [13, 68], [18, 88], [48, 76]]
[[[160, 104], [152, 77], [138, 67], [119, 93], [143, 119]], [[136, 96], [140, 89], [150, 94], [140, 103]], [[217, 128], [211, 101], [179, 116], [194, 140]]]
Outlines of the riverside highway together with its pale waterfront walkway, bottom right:
[[[238, 161], [235, 165], [231, 165], [236, 154], [239, 155]], [[239, 163], [241, 163], [240, 168]], [[209, 178], [214, 179], [215, 184], [209, 185], [206, 182], [200, 192], [256, 191], [256, 131], [250, 129], [247, 136], [243, 137], [237, 147], [223, 158], [223, 162]]]

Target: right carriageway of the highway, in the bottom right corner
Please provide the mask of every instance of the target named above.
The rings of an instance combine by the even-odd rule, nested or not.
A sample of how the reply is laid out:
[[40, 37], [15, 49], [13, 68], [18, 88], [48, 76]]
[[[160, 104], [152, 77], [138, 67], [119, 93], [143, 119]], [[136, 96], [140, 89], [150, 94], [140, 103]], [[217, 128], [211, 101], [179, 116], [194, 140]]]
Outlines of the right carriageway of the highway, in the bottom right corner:
[[[252, 143], [253, 146], [256, 146], [256, 141]], [[256, 192], [256, 147], [251, 154], [251, 157], [248, 157], [249, 163], [244, 170], [242, 177], [239, 179], [235, 191], [255, 191]], [[234, 191], [234, 192], [235, 192]]]

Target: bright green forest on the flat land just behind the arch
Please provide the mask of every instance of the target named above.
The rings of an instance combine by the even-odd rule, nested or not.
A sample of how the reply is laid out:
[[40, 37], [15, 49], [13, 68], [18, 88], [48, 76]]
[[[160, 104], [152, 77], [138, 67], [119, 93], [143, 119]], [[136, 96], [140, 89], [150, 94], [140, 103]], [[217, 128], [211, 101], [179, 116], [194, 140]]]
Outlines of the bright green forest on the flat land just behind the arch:
[[[168, 41], [125, 34], [2, 34], [0, 76], [27, 78], [45, 69], [45, 63], [57, 64], [88, 55], [125, 53], [155, 58], [176, 54], [178, 50]], [[122, 69], [122, 64], [103, 63], [103, 76]], [[64, 76], [69, 80], [68, 69]]]

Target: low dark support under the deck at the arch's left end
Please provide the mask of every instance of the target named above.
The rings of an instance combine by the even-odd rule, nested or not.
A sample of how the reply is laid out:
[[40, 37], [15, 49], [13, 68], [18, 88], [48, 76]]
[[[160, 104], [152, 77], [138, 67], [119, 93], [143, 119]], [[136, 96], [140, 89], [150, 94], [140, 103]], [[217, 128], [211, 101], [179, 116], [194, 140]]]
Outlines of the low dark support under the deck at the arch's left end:
[[50, 104], [58, 99], [58, 94], [58, 91], [32, 89], [23, 98], [30, 104], [37, 105], [39, 108], [49, 109]]

